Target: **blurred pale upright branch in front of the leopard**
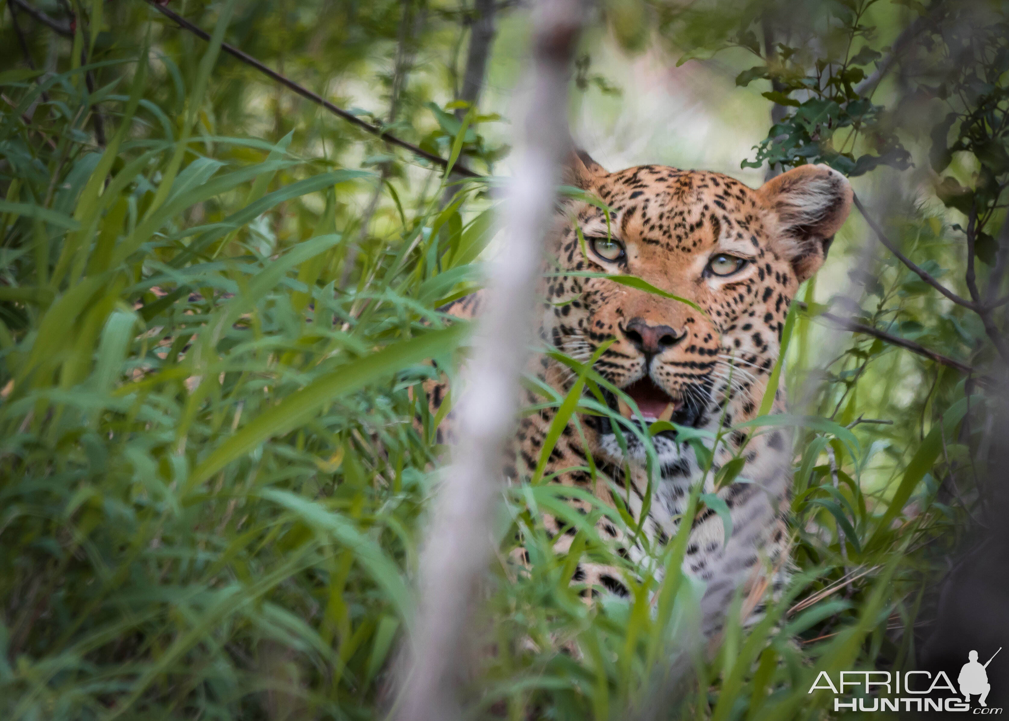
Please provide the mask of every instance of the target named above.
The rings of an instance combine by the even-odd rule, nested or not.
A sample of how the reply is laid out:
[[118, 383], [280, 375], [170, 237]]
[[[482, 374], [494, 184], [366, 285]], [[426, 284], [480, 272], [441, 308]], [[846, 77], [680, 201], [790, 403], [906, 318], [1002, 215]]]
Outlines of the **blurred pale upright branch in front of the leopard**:
[[501, 491], [502, 451], [514, 432], [543, 238], [569, 144], [567, 88], [586, 12], [583, 0], [540, 0], [535, 6], [520, 149], [499, 215], [508, 252], [490, 271], [468, 388], [456, 411], [454, 464], [424, 544], [420, 612], [398, 721], [448, 721], [460, 712], [456, 689], [469, 670], [467, 631], [491, 554], [491, 510]]

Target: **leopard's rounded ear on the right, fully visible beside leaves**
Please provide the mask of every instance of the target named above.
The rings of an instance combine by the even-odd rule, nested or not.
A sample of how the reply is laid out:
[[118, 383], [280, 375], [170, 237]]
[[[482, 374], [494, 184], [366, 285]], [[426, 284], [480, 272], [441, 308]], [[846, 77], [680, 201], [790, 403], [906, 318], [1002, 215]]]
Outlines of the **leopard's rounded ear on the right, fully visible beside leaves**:
[[757, 194], [777, 219], [777, 247], [802, 283], [823, 265], [834, 233], [845, 224], [852, 186], [829, 166], [799, 166], [768, 181]]

